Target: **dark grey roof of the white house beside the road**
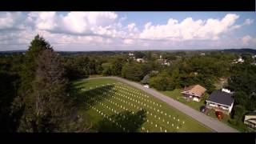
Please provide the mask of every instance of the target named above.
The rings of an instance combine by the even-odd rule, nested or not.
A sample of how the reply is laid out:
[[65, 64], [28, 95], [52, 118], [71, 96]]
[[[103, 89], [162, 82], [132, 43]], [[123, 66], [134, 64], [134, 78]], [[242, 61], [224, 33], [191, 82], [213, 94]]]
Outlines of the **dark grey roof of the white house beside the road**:
[[206, 101], [216, 102], [226, 106], [231, 106], [232, 103], [234, 102], [234, 98], [232, 97], [232, 94], [229, 94], [220, 90], [214, 90], [210, 94], [209, 98], [207, 98]]

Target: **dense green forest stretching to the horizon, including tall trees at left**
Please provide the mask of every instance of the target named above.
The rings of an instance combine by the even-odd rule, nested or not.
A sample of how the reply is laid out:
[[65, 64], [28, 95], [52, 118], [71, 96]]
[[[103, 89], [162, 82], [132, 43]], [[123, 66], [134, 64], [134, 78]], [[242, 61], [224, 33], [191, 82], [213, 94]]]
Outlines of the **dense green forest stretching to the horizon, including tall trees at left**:
[[[228, 78], [234, 90], [234, 125], [242, 125], [248, 111], [256, 109], [256, 66], [249, 53], [207, 51], [128, 52], [63, 54], [54, 52], [37, 35], [26, 53], [0, 56], [0, 130], [2, 132], [90, 131], [90, 118], [79, 116], [70, 82], [90, 75], [119, 76], [149, 84], [156, 90], [174, 90], [193, 84], [205, 86], [210, 94], [214, 83]], [[159, 56], [161, 55], [161, 58]], [[137, 62], [143, 58], [145, 62]], [[162, 64], [163, 60], [170, 65]]]

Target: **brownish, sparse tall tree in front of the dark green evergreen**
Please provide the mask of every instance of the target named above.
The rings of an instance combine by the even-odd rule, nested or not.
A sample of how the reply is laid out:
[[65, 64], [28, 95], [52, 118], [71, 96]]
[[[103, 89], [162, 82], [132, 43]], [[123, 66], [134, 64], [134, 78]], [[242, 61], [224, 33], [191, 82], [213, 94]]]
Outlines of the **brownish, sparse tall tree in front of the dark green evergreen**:
[[70, 113], [64, 68], [53, 50], [44, 50], [36, 64], [38, 67], [32, 82], [33, 92], [26, 96], [26, 109], [20, 130], [62, 131]]

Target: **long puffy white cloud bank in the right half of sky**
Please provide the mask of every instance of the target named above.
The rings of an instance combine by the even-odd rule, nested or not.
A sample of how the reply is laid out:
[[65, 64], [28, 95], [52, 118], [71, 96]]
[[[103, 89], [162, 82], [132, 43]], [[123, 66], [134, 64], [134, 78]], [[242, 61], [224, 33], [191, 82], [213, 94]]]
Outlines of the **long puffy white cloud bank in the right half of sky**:
[[182, 22], [170, 18], [166, 25], [152, 26], [151, 22], [146, 23], [140, 38], [147, 39], [168, 39], [168, 40], [217, 40], [220, 34], [234, 26], [239, 18], [237, 14], [226, 14], [221, 20], [209, 18], [206, 21], [186, 18]]

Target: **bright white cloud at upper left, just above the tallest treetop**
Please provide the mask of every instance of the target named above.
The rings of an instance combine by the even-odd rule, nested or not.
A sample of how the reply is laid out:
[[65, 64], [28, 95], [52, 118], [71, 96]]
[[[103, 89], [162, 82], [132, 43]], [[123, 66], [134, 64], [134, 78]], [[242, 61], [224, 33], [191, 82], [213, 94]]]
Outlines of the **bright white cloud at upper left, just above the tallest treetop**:
[[59, 34], [105, 34], [118, 15], [114, 12], [70, 12], [65, 16], [56, 12], [32, 12], [39, 30], [49, 30]]

